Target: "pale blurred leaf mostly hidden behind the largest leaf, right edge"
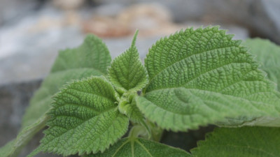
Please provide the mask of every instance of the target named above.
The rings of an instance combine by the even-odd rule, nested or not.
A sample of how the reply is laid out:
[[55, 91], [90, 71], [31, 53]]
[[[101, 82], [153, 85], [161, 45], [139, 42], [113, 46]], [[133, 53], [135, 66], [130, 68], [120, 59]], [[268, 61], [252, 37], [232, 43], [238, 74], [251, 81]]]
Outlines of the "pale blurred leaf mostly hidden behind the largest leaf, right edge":
[[[255, 55], [254, 59], [260, 61], [260, 68], [267, 73], [267, 77], [272, 82], [276, 82], [278, 84], [277, 89], [280, 91], [280, 63], [277, 59], [280, 58], [280, 47], [270, 42], [269, 40], [264, 40], [260, 38], [247, 39], [242, 43], [249, 47], [249, 52]], [[239, 117], [237, 119], [226, 119], [223, 121], [223, 124], [219, 124], [220, 126], [280, 126], [279, 121], [280, 118], [274, 117], [260, 117], [255, 119], [252, 117], [251, 120], [244, 121], [246, 117]]]

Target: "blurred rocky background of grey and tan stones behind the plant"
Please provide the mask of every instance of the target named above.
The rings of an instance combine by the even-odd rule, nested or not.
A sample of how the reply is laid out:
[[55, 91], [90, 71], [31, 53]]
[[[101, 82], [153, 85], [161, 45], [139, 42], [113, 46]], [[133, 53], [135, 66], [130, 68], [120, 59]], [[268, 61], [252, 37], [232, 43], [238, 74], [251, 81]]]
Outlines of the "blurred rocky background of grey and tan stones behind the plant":
[[[116, 57], [139, 29], [137, 47], [144, 59], [156, 40], [188, 27], [220, 25], [235, 39], [280, 44], [279, 16], [280, 0], [0, 0], [0, 147], [17, 135], [29, 98], [57, 52], [80, 45], [87, 33], [102, 38]], [[187, 140], [203, 138], [188, 135]], [[165, 142], [169, 138], [177, 138], [175, 147], [187, 141], [180, 134]], [[37, 144], [32, 141], [21, 156]], [[188, 145], [183, 149], [195, 147]]]

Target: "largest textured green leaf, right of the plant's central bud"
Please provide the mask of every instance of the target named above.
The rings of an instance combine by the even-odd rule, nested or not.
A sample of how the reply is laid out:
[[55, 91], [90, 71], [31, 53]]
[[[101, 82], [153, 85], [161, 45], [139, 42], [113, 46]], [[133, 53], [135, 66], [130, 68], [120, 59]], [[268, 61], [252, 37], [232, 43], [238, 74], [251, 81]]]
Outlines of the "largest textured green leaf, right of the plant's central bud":
[[186, 29], [159, 40], [145, 60], [150, 82], [137, 106], [175, 131], [225, 117], [279, 117], [280, 94], [240, 43], [218, 27]]

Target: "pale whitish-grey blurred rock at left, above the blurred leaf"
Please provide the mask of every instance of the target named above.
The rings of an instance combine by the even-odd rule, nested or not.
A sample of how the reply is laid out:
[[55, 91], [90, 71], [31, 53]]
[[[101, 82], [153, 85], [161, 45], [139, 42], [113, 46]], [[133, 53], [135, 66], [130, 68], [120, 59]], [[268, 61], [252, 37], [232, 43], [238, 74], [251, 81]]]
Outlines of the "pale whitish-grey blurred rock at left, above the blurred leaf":
[[42, 79], [48, 75], [59, 50], [76, 47], [82, 42], [83, 35], [69, 29], [18, 36], [13, 40], [13, 50], [0, 57], [0, 84]]

